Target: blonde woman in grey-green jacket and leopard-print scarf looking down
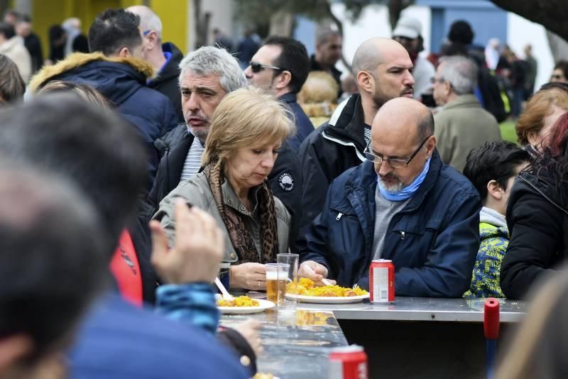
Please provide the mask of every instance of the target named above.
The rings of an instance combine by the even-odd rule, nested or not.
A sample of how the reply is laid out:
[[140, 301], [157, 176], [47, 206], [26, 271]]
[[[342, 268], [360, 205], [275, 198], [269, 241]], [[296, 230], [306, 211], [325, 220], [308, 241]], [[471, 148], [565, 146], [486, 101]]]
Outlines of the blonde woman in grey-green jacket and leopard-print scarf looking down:
[[266, 177], [294, 128], [288, 111], [261, 89], [226, 95], [212, 117], [204, 169], [170, 192], [154, 216], [173, 244], [176, 198], [211, 214], [224, 234], [232, 288], [265, 290], [263, 263], [288, 251], [290, 214], [273, 196]]

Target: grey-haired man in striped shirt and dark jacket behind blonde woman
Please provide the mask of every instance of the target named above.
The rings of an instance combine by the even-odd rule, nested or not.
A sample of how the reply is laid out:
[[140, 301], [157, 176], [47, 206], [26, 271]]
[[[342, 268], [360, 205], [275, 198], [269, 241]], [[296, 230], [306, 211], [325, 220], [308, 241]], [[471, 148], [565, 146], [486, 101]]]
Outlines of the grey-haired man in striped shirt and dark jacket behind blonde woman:
[[[187, 54], [180, 62], [180, 96], [185, 123], [155, 143], [161, 159], [145, 209], [141, 210], [143, 221], [151, 219], [158, 211], [158, 204], [180, 182], [197, 174], [209, 133], [209, 120], [226, 94], [245, 86], [246, 77], [239, 62], [224, 49], [204, 46]], [[299, 167], [295, 150], [284, 143], [268, 175], [274, 196], [292, 216], [291, 245], [295, 241], [301, 209]]]

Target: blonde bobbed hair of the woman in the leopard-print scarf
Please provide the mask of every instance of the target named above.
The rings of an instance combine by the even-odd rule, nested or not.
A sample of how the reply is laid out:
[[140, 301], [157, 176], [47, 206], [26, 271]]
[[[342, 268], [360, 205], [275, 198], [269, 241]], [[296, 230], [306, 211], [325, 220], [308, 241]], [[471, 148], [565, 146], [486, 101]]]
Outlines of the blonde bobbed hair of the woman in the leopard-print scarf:
[[246, 87], [215, 109], [202, 164], [222, 165], [240, 148], [283, 142], [295, 133], [293, 113], [263, 89]]

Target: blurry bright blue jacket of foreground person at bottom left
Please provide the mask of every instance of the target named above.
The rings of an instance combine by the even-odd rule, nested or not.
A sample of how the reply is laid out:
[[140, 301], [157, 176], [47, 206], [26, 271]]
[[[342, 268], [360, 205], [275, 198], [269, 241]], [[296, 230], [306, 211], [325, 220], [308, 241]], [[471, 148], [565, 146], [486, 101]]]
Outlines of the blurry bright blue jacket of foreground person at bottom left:
[[87, 314], [70, 351], [69, 378], [249, 378], [239, 358], [194, 326], [108, 294]]

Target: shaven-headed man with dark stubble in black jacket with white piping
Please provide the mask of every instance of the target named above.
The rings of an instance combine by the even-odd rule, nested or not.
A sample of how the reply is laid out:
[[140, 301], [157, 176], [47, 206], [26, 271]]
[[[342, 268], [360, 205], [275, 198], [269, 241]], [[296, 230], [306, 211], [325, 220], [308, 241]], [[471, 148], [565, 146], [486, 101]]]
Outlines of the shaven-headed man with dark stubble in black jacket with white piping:
[[[413, 97], [413, 62], [395, 40], [366, 40], [357, 48], [352, 66], [359, 94], [340, 104], [329, 122], [312, 132], [298, 150], [304, 167], [300, 236], [322, 211], [332, 180], [365, 161], [378, 109], [395, 97]], [[296, 247], [304, 246], [305, 239], [300, 237]]]

